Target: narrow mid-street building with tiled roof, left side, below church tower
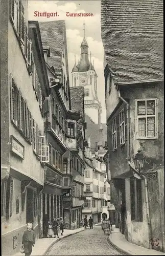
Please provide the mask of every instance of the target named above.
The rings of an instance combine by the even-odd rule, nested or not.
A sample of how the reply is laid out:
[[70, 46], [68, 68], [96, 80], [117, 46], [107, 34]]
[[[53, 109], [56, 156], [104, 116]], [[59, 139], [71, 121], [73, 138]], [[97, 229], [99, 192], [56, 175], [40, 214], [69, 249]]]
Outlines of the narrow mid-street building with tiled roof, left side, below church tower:
[[82, 209], [84, 204], [84, 150], [85, 150], [85, 125], [84, 125], [84, 88], [70, 88], [72, 115], [78, 114], [77, 126], [73, 134], [68, 137], [67, 147], [72, 154], [72, 190], [63, 197], [64, 223], [66, 229], [80, 227]]

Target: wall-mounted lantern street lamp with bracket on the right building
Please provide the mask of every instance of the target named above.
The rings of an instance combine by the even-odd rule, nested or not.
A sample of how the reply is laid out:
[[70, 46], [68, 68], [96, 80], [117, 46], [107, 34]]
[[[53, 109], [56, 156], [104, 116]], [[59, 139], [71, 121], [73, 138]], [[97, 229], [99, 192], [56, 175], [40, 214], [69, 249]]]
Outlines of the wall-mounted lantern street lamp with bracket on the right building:
[[138, 170], [138, 174], [140, 177], [146, 177], [149, 180], [154, 180], [157, 178], [156, 171], [148, 171], [142, 172], [144, 165], [145, 165], [145, 156], [140, 149], [138, 149], [137, 154], [134, 157], [134, 165], [135, 169]]

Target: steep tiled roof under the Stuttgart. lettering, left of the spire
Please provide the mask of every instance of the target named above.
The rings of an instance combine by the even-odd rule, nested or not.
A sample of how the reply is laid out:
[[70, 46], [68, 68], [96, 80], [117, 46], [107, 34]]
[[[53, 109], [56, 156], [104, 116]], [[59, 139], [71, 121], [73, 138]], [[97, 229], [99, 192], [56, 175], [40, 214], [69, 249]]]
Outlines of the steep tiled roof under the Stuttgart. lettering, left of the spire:
[[65, 32], [65, 21], [39, 23], [43, 49], [50, 48], [49, 66], [53, 66], [57, 77], [61, 78], [62, 50]]

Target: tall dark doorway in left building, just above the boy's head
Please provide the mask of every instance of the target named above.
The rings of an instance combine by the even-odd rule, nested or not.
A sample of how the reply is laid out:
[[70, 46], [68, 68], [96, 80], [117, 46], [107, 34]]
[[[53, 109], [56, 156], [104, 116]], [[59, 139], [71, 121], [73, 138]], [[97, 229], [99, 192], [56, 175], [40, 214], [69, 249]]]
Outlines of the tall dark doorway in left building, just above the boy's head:
[[33, 224], [33, 190], [27, 189], [27, 223]]

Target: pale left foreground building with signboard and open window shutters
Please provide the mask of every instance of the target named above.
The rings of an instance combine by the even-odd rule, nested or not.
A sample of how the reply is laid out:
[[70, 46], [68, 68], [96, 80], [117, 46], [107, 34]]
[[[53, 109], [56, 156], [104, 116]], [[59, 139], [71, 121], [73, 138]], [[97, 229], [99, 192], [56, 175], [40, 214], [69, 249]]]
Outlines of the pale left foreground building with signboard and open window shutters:
[[[44, 138], [43, 101], [49, 81], [37, 22], [28, 22], [27, 1], [1, 1], [1, 216], [2, 253], [16, 253], [22, 232], [40, 232]], [[8, 246], [7, 246], [8, 245]]]

